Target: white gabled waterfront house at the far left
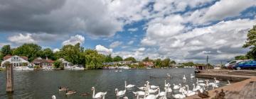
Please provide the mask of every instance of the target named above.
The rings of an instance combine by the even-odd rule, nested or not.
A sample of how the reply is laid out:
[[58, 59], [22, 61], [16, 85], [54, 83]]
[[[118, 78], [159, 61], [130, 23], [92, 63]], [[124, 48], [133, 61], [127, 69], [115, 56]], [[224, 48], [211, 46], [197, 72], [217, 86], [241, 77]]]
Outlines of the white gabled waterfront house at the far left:
[[6, 55], [4, 57], [4, 61], [1, 62], [1, 67], [4, 67], [3, 65], [4, 65], [5, 62], [10, 62], [13, 67], [28, 66], [28, 64], [29, 64], [28, 57], [17, 56], [17, 55], [14, 55], [14, 56]]

